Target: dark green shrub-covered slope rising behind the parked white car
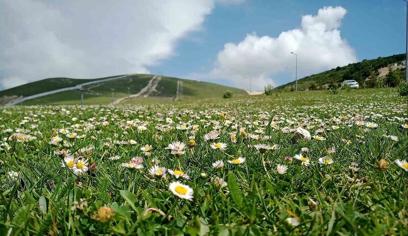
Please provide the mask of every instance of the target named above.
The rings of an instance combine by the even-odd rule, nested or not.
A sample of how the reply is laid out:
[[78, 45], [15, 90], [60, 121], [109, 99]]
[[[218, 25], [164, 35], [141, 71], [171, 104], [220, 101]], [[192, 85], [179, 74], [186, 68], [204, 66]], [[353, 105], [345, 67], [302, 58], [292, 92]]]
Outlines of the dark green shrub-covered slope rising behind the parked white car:
[[[297, 88], [300, 91], [308, 90], [311, 84], [315, 84], [317, 88], [325, 89], [329, 85], [339, 84], [347, 79], [354, 79], [359, 83], [364, 83], [369, 76], [376, 77], [378, 69], [387, 67], [391, 63], [400, 63], [405, 60], [405, 53], [378, 57], [373, 60], [363, 60], [362, 62], [348, 64], [344, 67], [337, 67], [331, 70], [306, 76], [297, 80]], [[398, 75], [401, 75], [401, 70], [396, 70]], [[291, 91], [294, 89], [295, 81], [292, 81], [281, 86], [277, 86], [274, 90], [278, 92]]]

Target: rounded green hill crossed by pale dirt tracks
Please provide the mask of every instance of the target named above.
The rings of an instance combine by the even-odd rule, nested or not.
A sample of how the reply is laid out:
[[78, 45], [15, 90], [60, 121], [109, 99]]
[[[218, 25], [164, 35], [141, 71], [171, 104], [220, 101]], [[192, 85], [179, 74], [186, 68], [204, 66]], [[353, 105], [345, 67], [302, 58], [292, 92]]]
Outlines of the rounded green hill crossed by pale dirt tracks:
[[[71, 90], [52, 94], [36, 99], [24, 101], [22, 105], [57, 105], [57, 104], [80, 104], [81, 93], [84, 95], [84, 103], [90, 105], [109, 104], [112, 102], [112, 89], [114, 89], [114, 100], [127, 97], [129, 94], [137, 94], [145, 87], [154, 75], [136, 74], [129, 75], [117, 80], [104, 81], [90, 84], [83, 87], [83, 90]], [[105, 79], [105, 78], [99, 78]], [[93, 79], [94, 80], [94, 79]], [[174, 77], [162, 76], [156, 91], [153, 92], [149, 99], [155, 101], [170, 100], [176, 96], [177, 81], [181, 80], [183, 99], [190, 98], [221, 98], [225, 90], [233, 91], [235, 96], [246, 95], [244, 90], [239, 88], [227, 87], [215, 83], [199, 82], [188, 79], [179, 79]], [[0, 92], [2, 96], [30, 96], [42, 92], [53, 91], [63, 87], [71, 87], [92, 80], [71, 79], [71, 78], [50, 78], [33, 83], [20, 85]], [[144, 98], [132, 99], [132, 104], [142, 102]], [[146, 99], [144, 99], [146, 100]], [[127, 102], [126, 102], [127, 103]]]

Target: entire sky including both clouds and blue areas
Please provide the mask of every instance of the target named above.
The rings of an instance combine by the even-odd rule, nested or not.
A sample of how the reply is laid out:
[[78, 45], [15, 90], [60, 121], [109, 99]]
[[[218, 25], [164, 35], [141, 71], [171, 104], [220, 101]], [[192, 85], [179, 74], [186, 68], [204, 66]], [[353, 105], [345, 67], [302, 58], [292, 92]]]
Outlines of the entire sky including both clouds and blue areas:
[[403, 53], [403, 1], [0, 1], [0, 89], [161, 72], [255, 89]]

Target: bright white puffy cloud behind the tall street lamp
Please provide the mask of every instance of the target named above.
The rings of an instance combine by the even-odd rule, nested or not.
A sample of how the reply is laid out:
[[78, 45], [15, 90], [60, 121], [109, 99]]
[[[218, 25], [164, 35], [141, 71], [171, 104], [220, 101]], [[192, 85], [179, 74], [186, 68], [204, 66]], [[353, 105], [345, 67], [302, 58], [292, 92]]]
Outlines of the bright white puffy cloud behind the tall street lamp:
[[274, 84], [274, 75], [294, 71], [295, 56], [290, 52], [298, 54], [298, 77], [356, 62], [353, 48], [340, 35], [346, 13], [342, 7], [324, 7], [315, 16], [302, 16], [300, 28], [277, 38], [251, 33], [238, 44], [226, 43], [209, 76], [232, 79], [239, 87], [247, 87], [248, 76], [253, 87], [261, 89]]

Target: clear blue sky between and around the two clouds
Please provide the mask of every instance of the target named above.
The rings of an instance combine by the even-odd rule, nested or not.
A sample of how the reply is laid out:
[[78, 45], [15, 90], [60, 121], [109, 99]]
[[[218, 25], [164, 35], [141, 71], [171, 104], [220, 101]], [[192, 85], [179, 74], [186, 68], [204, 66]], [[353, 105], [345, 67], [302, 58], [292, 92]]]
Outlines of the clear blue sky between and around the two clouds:
[[[283, 31], [299, 27], [302, 15], [315, 15], [324, 6], [342, 6], [347, 10], [340, 27], [341, 36], [355, 50], [359, 61], [403, 53], [404, 4], [402, 1], [374, 0], [246, 1], [237, 5], [218, 5], [207, 17], [202, 31], [180, 41], [176, 55], [148, 69], [153, 73], [162, 71], [166, 75], [183, 78], [190, 78], [195, 73], [204, 74], [211, 70], [218, 51], [225, 43], [239, 43], [251, 32], [277, 37]], [[276, 85], [279, 85], [290, 80], [293, 74], [276, 76]], [[234, 86], [233, 80], [222, 82]]]

